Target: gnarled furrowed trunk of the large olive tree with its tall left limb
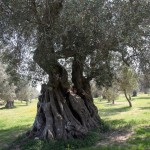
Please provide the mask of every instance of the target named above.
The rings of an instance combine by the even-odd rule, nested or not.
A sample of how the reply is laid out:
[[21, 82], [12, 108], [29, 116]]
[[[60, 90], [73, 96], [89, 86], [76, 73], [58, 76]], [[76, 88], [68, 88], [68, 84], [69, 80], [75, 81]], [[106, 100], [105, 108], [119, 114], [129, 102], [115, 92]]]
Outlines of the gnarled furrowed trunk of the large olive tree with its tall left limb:
[[51, 9], [46, 7], [47, 11], [43, 15], [45, 24], [41, 23], [37, 28], [39, 37], [34, 61], [49, 75], [49, 83], [42, 85], [36, 118], [27, 135], [40, 139], [82, 137], [100, 122], [97, 108], [93, 104], [89, 81], [82, 76], [83, 65], [79, 67], [78, 61], [74, 60], [72, 81], [76, 93], [75, 89], [72, 91], [70, 88], [67, 71], [57, 60], [51, 27], [62, 8], [62, 2], [63, 0], [54, 1]]

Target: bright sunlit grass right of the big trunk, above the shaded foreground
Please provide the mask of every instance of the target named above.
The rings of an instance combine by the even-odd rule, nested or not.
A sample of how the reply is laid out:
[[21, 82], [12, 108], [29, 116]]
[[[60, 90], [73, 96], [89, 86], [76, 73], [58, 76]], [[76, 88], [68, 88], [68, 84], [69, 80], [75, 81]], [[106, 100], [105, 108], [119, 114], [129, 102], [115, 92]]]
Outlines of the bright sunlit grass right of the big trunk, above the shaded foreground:
[[98, 99], [95, 99], [95, 104], [101, 118], [107, 122], [113, 122], [113, 125], [124, 126], [125, 123], [131, 123], [134, 124], [133, 127], [139, 127], [150, 124], [150, 97], [148, 95], [141, 94], [132, 98], [132, 108], [128, 107], [128, 102], [123, 96], [116, 100], [115, 105], [106, 101], [99, 102]]

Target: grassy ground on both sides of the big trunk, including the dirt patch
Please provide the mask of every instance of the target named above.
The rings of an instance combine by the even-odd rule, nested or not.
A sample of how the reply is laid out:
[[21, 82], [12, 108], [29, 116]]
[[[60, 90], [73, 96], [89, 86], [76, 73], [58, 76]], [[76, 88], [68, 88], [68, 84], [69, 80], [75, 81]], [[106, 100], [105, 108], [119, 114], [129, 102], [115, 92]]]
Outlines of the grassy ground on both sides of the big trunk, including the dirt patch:
[[[0, 149], [7, 148], [18, 135], [31, 127], [36, 114], [36, 100], [29, 106], [19, 101], [15, 108], [0, 106]], [[95, 99], [102, 119], [110, 126], [100, 133], [99, 142], [81, 150], [148, 150], [150, 149], [150, 96], [140, 94], [133, 98], [133, 107], [121, 95], [115, 105]]]

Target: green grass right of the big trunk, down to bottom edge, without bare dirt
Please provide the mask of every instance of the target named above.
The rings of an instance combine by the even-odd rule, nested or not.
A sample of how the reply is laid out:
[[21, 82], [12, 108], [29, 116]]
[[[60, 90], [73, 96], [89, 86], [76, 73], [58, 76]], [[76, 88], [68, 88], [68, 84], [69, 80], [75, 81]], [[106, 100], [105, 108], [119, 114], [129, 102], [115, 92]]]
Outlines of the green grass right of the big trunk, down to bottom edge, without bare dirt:
[[107, 101], [95, 99], [99, 115], [114, 130], [133, 132], [124, 143], [111, 143], [82, 150], [148, 150], [150, 149], [150, 96], [141, 94], [132, 98], [133, 107], [129, 108], [123, 96], [112, 105]]

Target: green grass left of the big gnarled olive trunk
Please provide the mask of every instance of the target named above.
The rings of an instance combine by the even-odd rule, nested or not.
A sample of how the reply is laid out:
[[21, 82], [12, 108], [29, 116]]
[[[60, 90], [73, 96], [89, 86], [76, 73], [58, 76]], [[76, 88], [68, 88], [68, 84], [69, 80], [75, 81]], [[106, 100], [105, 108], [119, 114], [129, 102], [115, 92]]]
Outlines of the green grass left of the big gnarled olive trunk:
[[29, 106], [25, 102], [15, 101], [15, 107], [5, 109], [0, 106], [0, 149], [25, 133], [32, 125], [36, 114], [36, 100]]

